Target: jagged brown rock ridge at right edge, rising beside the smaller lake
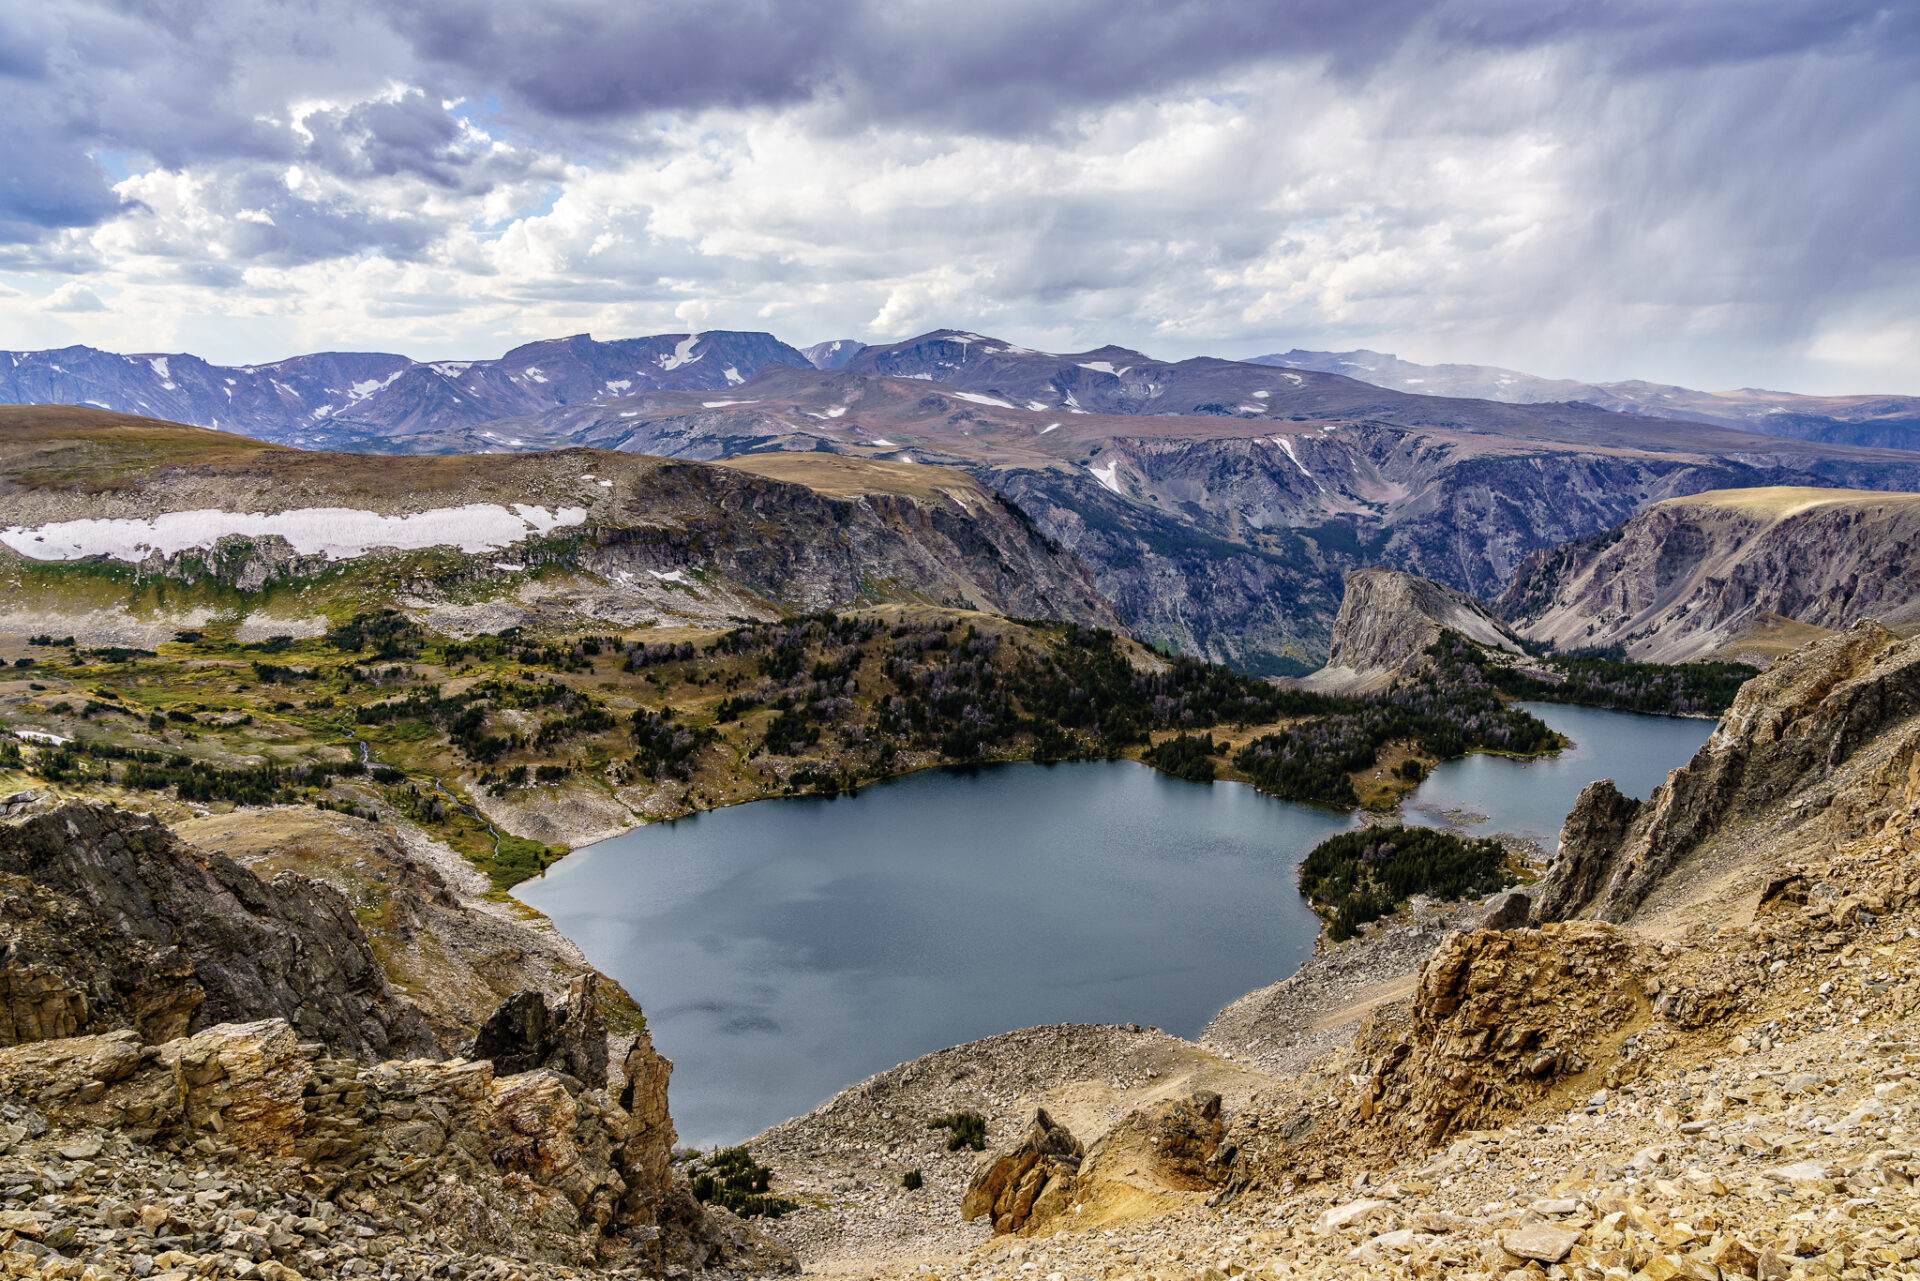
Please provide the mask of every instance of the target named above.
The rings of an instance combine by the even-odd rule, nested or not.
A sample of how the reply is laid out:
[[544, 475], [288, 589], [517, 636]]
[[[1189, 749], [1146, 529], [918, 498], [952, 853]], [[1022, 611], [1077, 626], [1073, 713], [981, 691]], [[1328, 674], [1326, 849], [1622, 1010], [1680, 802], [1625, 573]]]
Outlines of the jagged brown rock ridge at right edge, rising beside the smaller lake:
[[1859, 834], [1905, 784], [1916, 714], [1920, 643], [1860, 622], [1797, 651], [1749, 680], [1707, 745], [1645, 803], [1611, 782], [1588, 786], [1534, 918], [1628, 920], [1703, 843], [1738, 860], [1743, 824], [1820, 814], [1830, 837]]

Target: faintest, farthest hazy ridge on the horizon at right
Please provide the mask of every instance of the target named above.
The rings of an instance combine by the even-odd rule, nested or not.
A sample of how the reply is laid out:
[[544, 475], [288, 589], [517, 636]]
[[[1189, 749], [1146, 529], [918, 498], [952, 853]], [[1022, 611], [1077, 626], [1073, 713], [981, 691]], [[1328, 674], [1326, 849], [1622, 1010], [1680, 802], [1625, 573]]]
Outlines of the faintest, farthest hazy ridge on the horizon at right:
[[1716, 423], [1766, 436], [1836, 446], [1920, 449], [1920, 396], [1795, 396], [1793, 392], [1695, 392], [1661, 382], [1574, 382], [1494, 365], [1415, 365], [1384, 351], [1283, 351], [1250, 365], [1346, 375], [1417, 396], [1465, 396], [1513, 405], [1578, 401], [1649, 419]]

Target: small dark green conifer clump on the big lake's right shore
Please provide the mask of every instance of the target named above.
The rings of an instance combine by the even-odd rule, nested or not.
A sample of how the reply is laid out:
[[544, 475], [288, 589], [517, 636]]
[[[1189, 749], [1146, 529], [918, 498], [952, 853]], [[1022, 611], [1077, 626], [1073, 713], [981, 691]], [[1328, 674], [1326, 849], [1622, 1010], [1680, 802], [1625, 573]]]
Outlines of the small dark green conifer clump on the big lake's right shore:
[[1513, 883], [1500, 841], [1436, 828], [1361, 828], [1327, 837], [1300, 864], [1300, 893], [1334, 943], [1413, 895], [1467, 899]]

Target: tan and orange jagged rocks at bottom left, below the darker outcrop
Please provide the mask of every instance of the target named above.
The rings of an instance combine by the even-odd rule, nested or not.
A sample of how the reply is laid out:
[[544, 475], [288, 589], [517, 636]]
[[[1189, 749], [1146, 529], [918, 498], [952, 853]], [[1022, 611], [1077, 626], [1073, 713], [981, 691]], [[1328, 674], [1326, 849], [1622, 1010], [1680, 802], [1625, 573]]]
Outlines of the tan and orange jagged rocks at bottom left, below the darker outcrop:
[[[324, 1058], [284, 1020], [261, 1020], [165, 1045], [113, 1031], [0, 1049], [0, 1097], [75, 1133], [182, 1156], [296, 1160], [309, 1189], [403, 1204], [419, 1231], [453, 1231], [468, 1252], [778, 1268], [783, 1252], [756, 1233], [712, 1231], [697, 1204], [668, 1204], [664, 1070], [643, 1039], [626, 1066], [616, 1102], [549, 1068]], [[728, 1258], [724, 1241], [749, 1256]]]

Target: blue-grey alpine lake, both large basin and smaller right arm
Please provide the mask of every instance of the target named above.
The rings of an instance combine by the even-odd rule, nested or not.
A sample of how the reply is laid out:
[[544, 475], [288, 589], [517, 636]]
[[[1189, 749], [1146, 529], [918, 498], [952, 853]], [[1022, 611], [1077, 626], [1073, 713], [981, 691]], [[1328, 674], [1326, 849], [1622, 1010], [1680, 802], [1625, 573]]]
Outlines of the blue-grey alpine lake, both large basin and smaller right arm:
[[[1645, 797], [1715, 726], [1526, 707], [1572, 747], [1446, 762], [1402, 822], [1551, 851], [1588, 782]], [[1131, 761], [993, 764], [651, 824], [515, 893], [641, 1003], [682, 1141], [737, 1143], [1014, 1027], [1196, 1035], [1311, 956], [1296, 866], [1356, 822]]]

